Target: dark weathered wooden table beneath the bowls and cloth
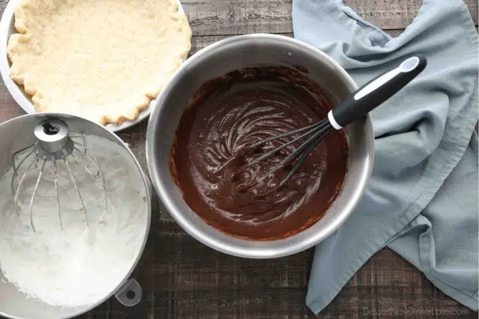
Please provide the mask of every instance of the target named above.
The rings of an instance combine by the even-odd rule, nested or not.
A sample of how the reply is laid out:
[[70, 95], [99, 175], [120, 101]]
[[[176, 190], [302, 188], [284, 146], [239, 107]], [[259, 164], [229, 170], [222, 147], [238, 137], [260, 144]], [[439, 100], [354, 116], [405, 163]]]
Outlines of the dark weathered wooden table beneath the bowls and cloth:
[[[1, 10], [8, 1], [0, 0]], [[476, 26], [478, 1], [465, 0]], [[183, 0], [193, 31], [192, 51], [242, 33], [292, 36], [291, 0]], [[415, 17], [419, 0], [345, 0], [366, 20], [397, 36]], [[0, 122], [21, 111], [0, 85]], [[146, 122], [119, 133], [146, 169]], [[142, 302], [123, 307], [115, 299], [83, 319], [312, 318], [305, 296], [313, 250], [276, 260], [244, 260], [213, 251], [185, 234], [155, 198], [148, 244], [133, 276]], [[387, 318], [411, 309], [411, 318], [478, 318], [432, 286], [390, 249], [376, 253], [318, 318]], [[434, 312], [433, 312], [434, 311]], [[441, 315], [443, 311], [444, 315]], [[382, 316], [370, 314], [381, 313]], [[431, 316], [435, 313], [435, 316]], [[451, 312], [450, 312], [451, 313]], [[411, 312], [409, 313], [411, 314]], [[404, 316], [404, 315], [403, 315]]]

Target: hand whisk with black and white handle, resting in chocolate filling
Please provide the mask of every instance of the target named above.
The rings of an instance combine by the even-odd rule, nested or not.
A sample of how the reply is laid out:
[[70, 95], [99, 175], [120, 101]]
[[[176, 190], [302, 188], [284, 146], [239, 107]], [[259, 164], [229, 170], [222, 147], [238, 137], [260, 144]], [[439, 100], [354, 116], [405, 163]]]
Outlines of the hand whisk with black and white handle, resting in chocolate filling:
[[288, 163], [292, 163], [292, 161], [298, 158], [296, 163], [292, 165], [292, 168], [289, 169], [286, 177], [283, 178], [281, 184], [284, 184], [294, 175], [294, 173], [305, 161], [307, 156], [313, 151], [316, 145], [320, 143], [321, 139], [328, 132], [333, 130], [333, 128], [335, 130], [341, 130], [341, 128], [344, 128], [346, 125], [354, 122], [354, 120], [358, 120], [365, 114], [381, 105], [383, 102], [385, 102], [385, 100], [396, 94], [400, 89], [402, 89], [402, 87], [417, 77], [417, 75], [422, 72], [424, 68], [426, 68], [426, 64], [427, 60], [422, 55], [409, 57], [408, 59], [402, 61], [402, 63], [396, 68], [380, 74], [378, 77], [372, 79], [368, 83], [365, 83], [363, 86], [357, 89], [357, 91], [350, 94], [346, 100], [344, 100], [344, 102], [337, 105], [333, 110], [329, 111], [328, 117], [321, 122], [307, 127], [298, 128], [296, 130], [292, 130], [291, 132], [277, 135], [275, 137], [263, 139], [262, 141], [249, 145], [248, 148], [253, 150], [270, 141], [302, 133], [295, 139], [292, 139], [278, 148], [270, 150], [266, 154], [259, 156], [255, 160], [248, 163], [247, 166], [259, 163], [260, 161], [273, 156], [276, 154], [276, 152], [283, 150], [287, 146], [307, 138], [306, 141], [298, 146], [298, 148], [296, 148], [291, 154], [287, 155], [279, 164], [275, 165], [272, 169], [270, 169], [270, 171], [268, 171], [258, 180], [258, 182], [260, 182], [261, 180], [266, 179], [277, 169], [287, 165]]

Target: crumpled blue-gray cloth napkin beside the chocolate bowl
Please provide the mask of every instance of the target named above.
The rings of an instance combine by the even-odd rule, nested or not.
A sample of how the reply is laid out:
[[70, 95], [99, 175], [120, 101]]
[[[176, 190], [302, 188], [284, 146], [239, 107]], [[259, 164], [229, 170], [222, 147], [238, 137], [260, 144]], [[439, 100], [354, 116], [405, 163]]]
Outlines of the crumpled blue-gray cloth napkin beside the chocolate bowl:
[[478, 33], [459, 0], [424, 0], [396, 38], [342, 1], [294, 0], [294, 37], [357, 85], [419, 53], [426, 69], [370, 113], [375, 158], [359, 206], [315, 247], [307, 305], [330, 303], [387, 246], [445, 294], [478, 309]]

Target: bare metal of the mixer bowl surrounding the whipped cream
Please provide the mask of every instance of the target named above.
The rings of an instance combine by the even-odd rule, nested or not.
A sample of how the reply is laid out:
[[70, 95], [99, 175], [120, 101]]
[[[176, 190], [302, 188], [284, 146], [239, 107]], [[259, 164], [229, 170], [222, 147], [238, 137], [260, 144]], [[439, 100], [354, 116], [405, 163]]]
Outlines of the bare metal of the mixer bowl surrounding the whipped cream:
[[[127, 148], [127, 145], [121, 141], [114, 133], [110, 133], [107, 128], [104, 128], [98, 124], [90, 122], [88, 120], [83, 120], [80, 117], [73, 117], [71, 115], [59, 114], [59, 113], [36, 113], [23, 115], [15, 117], [12, 120], [3, 122], [0, 124], [0, 174], [3, 174], [5, 170], [9, 167], [12, 167], [12, 154], [17, 150], [26, 148], [28, 145], [37, 141], [37, 137], [34, 135], [34, 128], [40, 122], [55, 118], [61, 120], [68, 125], [70, 133], [80, 134], [84, 133], [86, 135], [96, 135], [107, 139], [107, 143], [116, 143], [120, 145], [122, 150], [122, 156], [125, 156], [125, 161], [129, 163], [132, 167], [135, 167], [139, 176], [141, 176], [144, 183], [144, 193], [146, 193], [146, 203], [147, 210], [144, 212], [147, 214], [147, 223], [144, 225], [144, 239], [143, 245], [138, 251], [137, 258], [135, 262], [131, 264], [131, 268], [128, 273], [125, 273], [124, 279], [118, 282], [118, 286], [104, 299], [97, 301], [88, 307], [78, 307], [78, 308], [60, 308], [52, 307], [40, 303], [34, 299], [28, 299], [25, 294], [18, 291], [18, 289], [13, 286], [11, 283], [8, 283], [3, 278], [3, 275], [0, 271], [0, 316], [12, 319], [66, 319], [79, 316], [80, 314], [89, 311], [90, 309], [100, 305], [106, 301], [110, 296], [117, 294], [120, 290], [125, 290], [131, 286], [131, 280], [129, 276], [138, 264], [140, 256], [146, 245], [146, 239], [148, 236], [150, 222], [151, 222], [151, 188], [148, 182], [148, 179], [144, 175], [140, 164], [136, 160], [135, 156]], [[1, 176], [1, 175], [0, 175]], [[0, 196], [12, 196], [11, 193], [0, 194]], [[54, 205], [55, 203], [52, 203]], [[0, 251], [0, 253], [2, 253]], [[113, 264], [112, 267], [115, 265]], [[137, 283], [138, 285], [138, 283]], [[120, 300], [120, 298], [119, 298]], [[124, 298], [121, 298], [122, 302], [125, 302]], [[139, 301], [139, 300], [138, 300]], [[137, 301], [137, 303], [138, 303]]]

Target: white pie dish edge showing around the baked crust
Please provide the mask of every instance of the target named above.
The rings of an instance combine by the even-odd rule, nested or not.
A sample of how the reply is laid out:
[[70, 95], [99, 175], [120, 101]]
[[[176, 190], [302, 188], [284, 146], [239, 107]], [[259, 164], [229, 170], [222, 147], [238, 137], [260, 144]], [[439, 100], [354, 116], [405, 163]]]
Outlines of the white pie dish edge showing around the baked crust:
[[[32, 113], [38, 113], [38, 112], [36, 111], [33, 102], [31, 102], [30, 96], [27, 93], [25, 93], [25, 90], [23, 89], [23, 85], [18, 85], [10, 78], [11, 63], [10, 63], [10, 60], [8, 59], [7, 51], [6, 51], [8, 39], [10, 38], [10, 35], [12, 33], [17, 33], [14, 27], [14, 9], [19, 1], [20, 0], [10, 0], [1, 16], [0, 48], [3, 53], [0, 55], [0, 75], [3, 79], [3, 83], [5, 83], [5, 86], [7, 87], [8, 92], [10, 92], [10, 95], [12, 96], [12, 98], [14, 98], [15, 102], [27, 114], [32, 114]], [[180, 0], [177, 0], [177, 1], [179, 5], [179, 11], [184, 12]], [[129, 128], [135, 124], [138, 124], [139, 122], [142, 122], [142, 120], [144, 120], [146, 117], [148, 117], [148, 115], [150, 115], [151, 109], [155, 106], [155, 104], [156, 104], [156, 98], [151, 100], [150, 105], [148, 105], [146, 109], [143, 109], [142, 111], [140, 111], [138, 117], [133, 121], [126, 120], [125, 122], [122, 122], [122, 124], [120, 125], [107, 124], [105, 125], [105, 127], [112, 132], [118, 132], [120, 130], [124, 130], [125, 128]], [[65, 112], [65, 113], [68, 113], [68, 112]]]

